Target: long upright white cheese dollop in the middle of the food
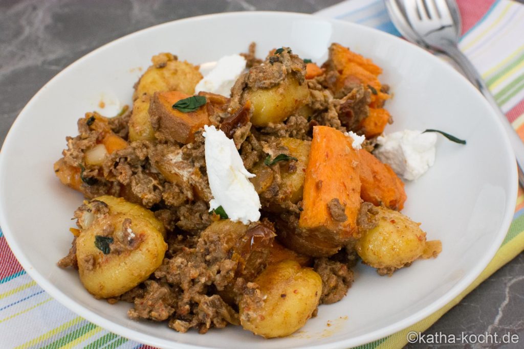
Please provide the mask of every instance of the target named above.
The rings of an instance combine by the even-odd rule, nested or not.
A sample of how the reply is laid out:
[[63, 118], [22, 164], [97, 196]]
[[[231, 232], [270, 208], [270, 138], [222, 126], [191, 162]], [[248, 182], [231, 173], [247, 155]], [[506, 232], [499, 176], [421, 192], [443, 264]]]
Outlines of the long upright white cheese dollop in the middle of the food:
[[258, 221], [260, 198], [248, 179], [255, 175], [246, 170], [235, 143], [222, 130], [204, 126], [204, 131], [205, 166], [213, 194], [210, 210], [222, 206], [232, 221]]

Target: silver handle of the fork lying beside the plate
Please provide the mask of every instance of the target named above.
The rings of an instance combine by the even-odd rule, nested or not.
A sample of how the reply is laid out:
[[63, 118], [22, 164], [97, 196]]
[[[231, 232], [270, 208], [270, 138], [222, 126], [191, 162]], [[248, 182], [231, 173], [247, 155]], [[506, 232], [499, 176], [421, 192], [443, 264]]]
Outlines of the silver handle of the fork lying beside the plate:
[[522, 172], [522, 168], [524, 168], [524, 143], [522, 143], [522, 140], [518, 136], [517, 132], [511, 126], [511, 123], [506, 118], [506, 115], [504, 115], [499, 105], [495, 101], [495, 98], [489, 91], [489, 88], [486, 86], [486, 83], [481, 77], [481, 74], [478, 73], [478, 71], [475, 69], [475, 66], [473, 66], [471, 61], [464, 55], [464, 53], [462, 53], [462, 51], [459, 50], [459, 48], [455, 45], [446, 46], [444, 53], [449, 55], [449, 57], [453, 59], [457, 65], [459, 65], [467, 80], [469, 80], [476, 88], [478, 88], [478, 91], [484, 95], [489, 104], [491, 104], [493, 109], [495, 109], [497, 112], [497, 115], [502, 122], [504, 129], [506, 130], [511, 147], [515, 152], [515, 157], [517, 158], [519, 184], [524, 187], [524, 173]]

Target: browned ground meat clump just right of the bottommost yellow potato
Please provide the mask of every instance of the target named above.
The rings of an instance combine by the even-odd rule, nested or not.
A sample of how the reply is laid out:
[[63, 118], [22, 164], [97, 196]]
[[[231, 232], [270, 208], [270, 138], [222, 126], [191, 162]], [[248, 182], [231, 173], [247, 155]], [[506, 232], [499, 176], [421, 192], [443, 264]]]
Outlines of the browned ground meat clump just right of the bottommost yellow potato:
[[322, 304], [331, 304], [341, 300], [353, 283], [353, 271], [344, 263], [328, 258], [317, 258], [313, 268], [322, 278], [322, 296], [320, 297]]

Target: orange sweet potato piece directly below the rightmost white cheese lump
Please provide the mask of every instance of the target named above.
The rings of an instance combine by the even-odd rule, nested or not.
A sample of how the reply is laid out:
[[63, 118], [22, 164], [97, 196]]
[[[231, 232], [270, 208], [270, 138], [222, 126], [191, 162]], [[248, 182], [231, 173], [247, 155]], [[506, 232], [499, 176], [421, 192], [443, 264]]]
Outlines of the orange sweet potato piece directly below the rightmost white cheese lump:
[[375, 206], [400, 211], [406, 201], [404, 183], [389, 165], [381, 163], [372, 153], [358, 151], [360, 157], [361, 198]]

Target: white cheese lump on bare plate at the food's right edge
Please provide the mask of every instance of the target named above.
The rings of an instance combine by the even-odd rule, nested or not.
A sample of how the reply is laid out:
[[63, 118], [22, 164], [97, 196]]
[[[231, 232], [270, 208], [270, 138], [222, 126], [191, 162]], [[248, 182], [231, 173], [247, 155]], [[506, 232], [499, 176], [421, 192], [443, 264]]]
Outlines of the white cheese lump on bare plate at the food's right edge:
[[377, 144], [373, 154], [408, 181], [419, 178], [435, 162], [435, 133], [403, 130], [378, 137]]

